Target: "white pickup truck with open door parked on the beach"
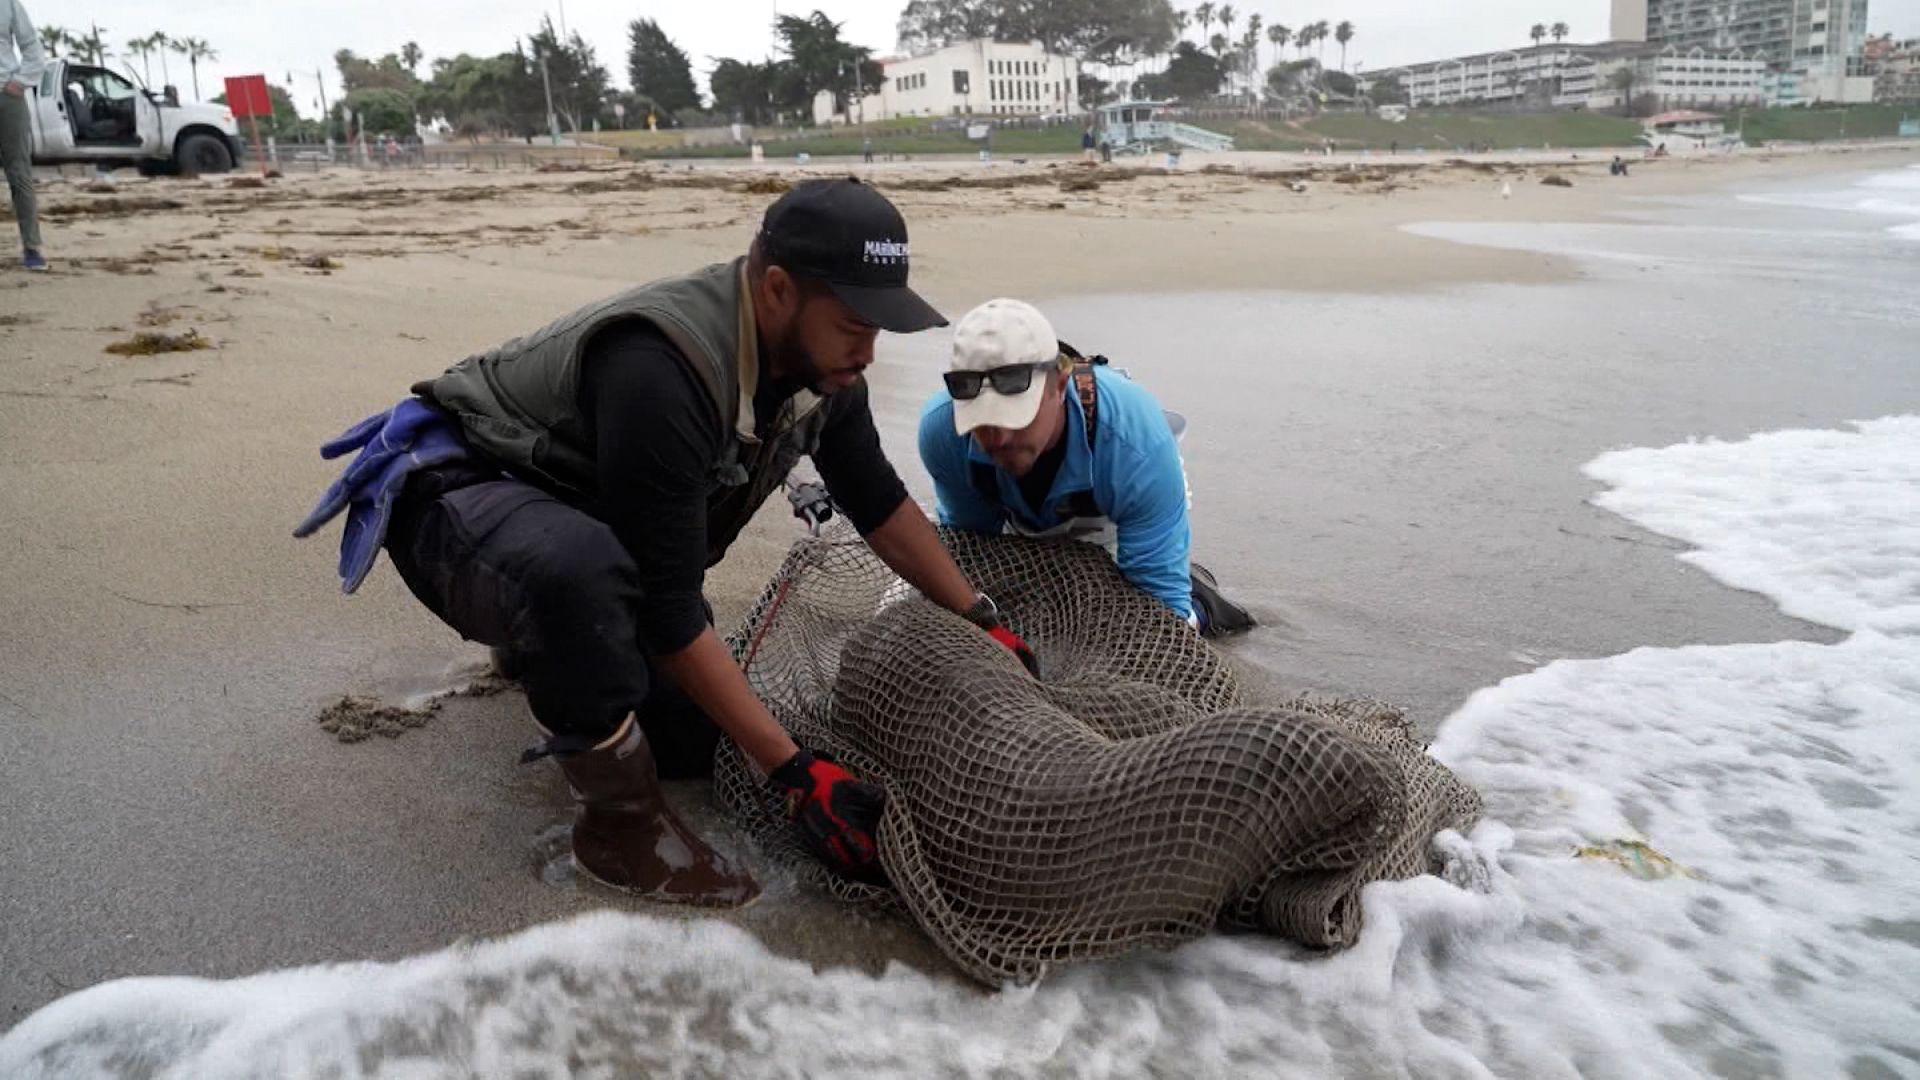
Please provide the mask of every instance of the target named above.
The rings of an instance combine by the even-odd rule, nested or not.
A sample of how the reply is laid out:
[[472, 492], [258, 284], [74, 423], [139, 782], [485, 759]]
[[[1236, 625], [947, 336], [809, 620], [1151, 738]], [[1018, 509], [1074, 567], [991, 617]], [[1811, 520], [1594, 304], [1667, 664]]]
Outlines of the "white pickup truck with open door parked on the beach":
[[179, 104], [106, 67], [48, 60], [33, 106], [38, 165], [136, 165], [146, 175], [225, 173], [240, 160], [227, 106]]

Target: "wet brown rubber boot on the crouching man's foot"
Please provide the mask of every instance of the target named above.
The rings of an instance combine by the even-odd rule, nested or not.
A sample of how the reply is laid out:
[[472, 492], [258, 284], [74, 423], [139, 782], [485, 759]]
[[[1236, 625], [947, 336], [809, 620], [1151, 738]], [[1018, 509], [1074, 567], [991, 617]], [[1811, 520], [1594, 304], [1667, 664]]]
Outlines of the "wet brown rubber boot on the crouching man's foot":
[[666, 805], [653, 749], [634, 717], [593, 749], [555, 761], [580, 801], [574, 865], [582, 874], [660, 903], [741, 907], [758, 899], [753, 876]]

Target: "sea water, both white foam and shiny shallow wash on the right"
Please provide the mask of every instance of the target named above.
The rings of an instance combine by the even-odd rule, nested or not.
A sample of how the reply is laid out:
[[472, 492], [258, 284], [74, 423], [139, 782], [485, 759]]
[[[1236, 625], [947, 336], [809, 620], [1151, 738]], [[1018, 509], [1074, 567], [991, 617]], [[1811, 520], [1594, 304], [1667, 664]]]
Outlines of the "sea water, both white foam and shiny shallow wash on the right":
[[1872, 215], [1738, 194], [1423, 227], [1574, 284], [1048, 304], [1190, 417], [1196, 550], [1265, 623], [1235, 655], [1413, 701], [1488, 798], [1446, 876], [1367, 890], [1357, 947], [987, 994], [609, 911], [106, 982], [0, 1036], [0, 1076], [1920, 1074], [1912, 263]]

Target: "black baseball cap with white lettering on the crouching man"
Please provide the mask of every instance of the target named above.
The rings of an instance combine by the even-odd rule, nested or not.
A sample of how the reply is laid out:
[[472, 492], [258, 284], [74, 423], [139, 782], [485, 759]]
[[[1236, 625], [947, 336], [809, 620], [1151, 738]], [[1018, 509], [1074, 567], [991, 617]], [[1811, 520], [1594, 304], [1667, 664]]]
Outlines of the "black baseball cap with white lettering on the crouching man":
[[947, 319], [906, 288], [906, 219], [856, 179], [804, 181], [768, 208], [760, 246], [770, 265], [824, 281], [868, 323], [895, 334]]

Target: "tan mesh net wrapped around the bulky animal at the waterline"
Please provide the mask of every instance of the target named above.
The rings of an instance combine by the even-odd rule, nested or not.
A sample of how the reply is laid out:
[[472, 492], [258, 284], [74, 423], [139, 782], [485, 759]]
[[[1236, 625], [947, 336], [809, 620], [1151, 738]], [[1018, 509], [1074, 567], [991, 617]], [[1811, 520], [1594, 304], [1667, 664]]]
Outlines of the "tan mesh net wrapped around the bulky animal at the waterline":
[[1427, 872], [1478, 796], [1373, 701], [1250, 705], [1227, 661], [1091, 544], [945, 532], [1041, 678], [845, 528], [801, 540], [730, 638], [795, 742], [887, 792], [895, 890], [829, 876], [722, 742], [722, 805], [845, 899], [904, 907], [968, 974], [1215, 926], [1352, 944], [1359, 888]]

